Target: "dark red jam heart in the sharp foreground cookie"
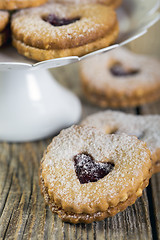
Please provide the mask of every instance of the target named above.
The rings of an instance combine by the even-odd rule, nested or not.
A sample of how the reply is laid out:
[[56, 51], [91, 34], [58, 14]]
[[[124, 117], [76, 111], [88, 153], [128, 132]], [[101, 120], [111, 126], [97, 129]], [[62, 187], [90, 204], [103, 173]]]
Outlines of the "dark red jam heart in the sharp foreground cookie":
[[80, 183], [84, 184], [104, 178], [113, 170], [114, 164], [95, 162], [90, 154], [81, 153], [74, 157], [74, 167]]

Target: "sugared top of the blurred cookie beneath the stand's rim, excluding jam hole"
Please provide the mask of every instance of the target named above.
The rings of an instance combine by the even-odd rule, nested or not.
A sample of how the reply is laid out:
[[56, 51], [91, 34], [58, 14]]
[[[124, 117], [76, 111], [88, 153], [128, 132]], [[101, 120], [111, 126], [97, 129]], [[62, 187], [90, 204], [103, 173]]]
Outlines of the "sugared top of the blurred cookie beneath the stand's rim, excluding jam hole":
[[[128, 71], [138, 70], [137, 74], [125, 77], [114, 76], [110, 68], [120, 63]], [[81, 71], [85, 81], [97, 90], [119, 96], [137, 97], [154, 94], [160, 88], [160, 62], [157, 59], [134, 54], [125, 48], [118, 48], [106, 54], [83, 61]]]

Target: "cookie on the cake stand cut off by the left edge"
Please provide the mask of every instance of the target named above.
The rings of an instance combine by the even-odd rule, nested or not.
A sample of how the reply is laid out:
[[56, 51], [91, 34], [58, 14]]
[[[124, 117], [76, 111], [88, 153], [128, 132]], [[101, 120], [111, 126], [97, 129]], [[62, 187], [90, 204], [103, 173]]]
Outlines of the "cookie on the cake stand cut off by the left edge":
[[0, 46], [2, 46], [9, 36], [9, 13], [0, 10]]

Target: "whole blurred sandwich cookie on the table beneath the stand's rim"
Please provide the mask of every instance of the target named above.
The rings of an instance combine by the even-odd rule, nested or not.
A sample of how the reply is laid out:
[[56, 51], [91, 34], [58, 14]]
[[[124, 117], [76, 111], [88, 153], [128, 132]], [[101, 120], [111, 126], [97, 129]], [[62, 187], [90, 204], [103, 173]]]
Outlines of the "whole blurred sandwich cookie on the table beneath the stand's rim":
[[82, 87], [101, 107], [132, 107], [160, 98], [160, 62], [118, 48], [83, 61]]

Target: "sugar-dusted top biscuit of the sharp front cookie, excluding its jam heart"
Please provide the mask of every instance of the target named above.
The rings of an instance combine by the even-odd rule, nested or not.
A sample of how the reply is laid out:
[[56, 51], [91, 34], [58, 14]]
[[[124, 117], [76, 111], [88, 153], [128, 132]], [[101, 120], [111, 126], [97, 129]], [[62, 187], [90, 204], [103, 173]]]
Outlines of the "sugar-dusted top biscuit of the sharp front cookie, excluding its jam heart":
[[[114, 169], [97, 182], [80, 184], [73, 159], [82, 152], [97, 162], [114, 163]], [[124, 191], [137, 189], [150, 165], [149, 152], [136, 137], [105, 135], [92, 127], [73, 126], [53, 139], [42, 163], [42, 177], [49, 195], [63, 209], [93, 212], [107, 208], [109, 202], [117, 204]]]

